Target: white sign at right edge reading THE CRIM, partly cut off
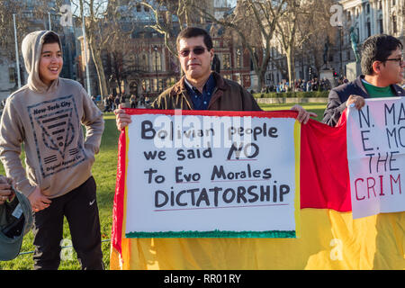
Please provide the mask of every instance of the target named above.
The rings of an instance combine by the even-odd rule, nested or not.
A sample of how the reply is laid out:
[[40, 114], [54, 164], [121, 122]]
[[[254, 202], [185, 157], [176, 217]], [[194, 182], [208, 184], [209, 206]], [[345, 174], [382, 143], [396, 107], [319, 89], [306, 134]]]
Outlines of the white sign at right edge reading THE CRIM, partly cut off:
[[405, 211], [405, 99], [367, 99], [347, 113], [353, 218]]

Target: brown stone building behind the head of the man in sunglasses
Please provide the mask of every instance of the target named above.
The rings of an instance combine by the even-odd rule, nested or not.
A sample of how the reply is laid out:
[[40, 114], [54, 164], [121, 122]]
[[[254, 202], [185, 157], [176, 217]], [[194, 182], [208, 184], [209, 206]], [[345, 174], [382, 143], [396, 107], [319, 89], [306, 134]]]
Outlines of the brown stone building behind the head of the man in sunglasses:
[[[211, 14], [223, 15], [231, 9], [232, 1], [205, 1]], [[128, 1], [121, 1], [121, 9], [130, 11], [122, 18], [121, 23], [133, 26], [130, 40], [125, 52], [119, 56], [106, 53], [106, 76], [111, 79], [108, 83], [112, 94], [136, 94], [148, 96], [152, 99], [166, 88], [174, 85], [182, 76], [177, 55], [174, 55], [166, 46], [164, 36], [149, 26], [155, 21], [152, 11], [146, 5], [138, 4], [129, 8]], [[153, 4], [153, 2], [150, 2]], [[160, 9], [165, 9], [161, 7]], [[180, 30], [177, 17], [170, 14], [172, 35]], [[217, 69], [225, 78], [233, 79], [239, 84], [249, 87], [250, 63], [248, 53], [240, 44], [225, 35], [223, 29], [201, 17], [195, 17], [195, 26], [210, 31], [213, 41]], [[175, 40], [175, 39], [173, 39]], [[214, 69], [215, 67], [212, 67]]]

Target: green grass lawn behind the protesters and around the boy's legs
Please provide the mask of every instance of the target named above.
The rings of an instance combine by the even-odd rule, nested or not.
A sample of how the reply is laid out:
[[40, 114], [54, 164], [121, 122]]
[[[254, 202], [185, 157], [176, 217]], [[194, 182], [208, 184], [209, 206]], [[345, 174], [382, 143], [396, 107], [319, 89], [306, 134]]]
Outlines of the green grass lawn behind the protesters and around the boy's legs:
[[[266, 111], [272, 110], [289, 110], [293, 103], [289, 104], [261, 104]], [[316, 120], [321, 121], [326, 103], [304, 103], [302, 106], [318, 114]], [[112, 202], [115, 190], [115, 175], [117, 169], [117, 146], [119, 131], [115, 127], [115, 118], [112, 113], [104, 113], [105, 130], [103, 133], [100, 153], [95, 156], [93, 166], [93, 175], [97, 184], [97, 203], [100, 211], [100, 224], [102, 233], [103, 247], [103, 262], [105, 269], [110, 268], [110, 237], [112, 229]], [[0, 174], [4, 175], [4, 168], [0, 166]], [[64, 223], [63, 238], [67, 239], [64, 246], [69, 244], [70, 232], [67, 225], [67, 220]], [[31, 231], [23, 239], [22, 255], [16, 257], [12, 261], [0, 262], [0, 270], [22, 270], [32, 269], [33, 260], [32, 253], [34, 247], [32, 245], [33, 236]], [[71, 242], [70, 242], [71, 243]], [[59, 269], [61, 270], [77, 270], [80, 265], [77, 261], [76, 252], [72, 247], [62, 249], [62, 254], [67, 260], [60, 262]], [[70, 260], [69, 260], [70, 259]]]

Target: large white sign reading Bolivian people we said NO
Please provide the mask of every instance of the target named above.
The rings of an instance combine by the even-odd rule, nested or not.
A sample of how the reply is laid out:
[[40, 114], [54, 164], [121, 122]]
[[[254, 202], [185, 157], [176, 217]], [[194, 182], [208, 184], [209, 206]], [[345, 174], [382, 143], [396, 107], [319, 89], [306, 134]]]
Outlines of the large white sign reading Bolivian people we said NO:
[[300, 210], [295, 119], [223, 112], [131, 117], [127, 238], [295, 237]]

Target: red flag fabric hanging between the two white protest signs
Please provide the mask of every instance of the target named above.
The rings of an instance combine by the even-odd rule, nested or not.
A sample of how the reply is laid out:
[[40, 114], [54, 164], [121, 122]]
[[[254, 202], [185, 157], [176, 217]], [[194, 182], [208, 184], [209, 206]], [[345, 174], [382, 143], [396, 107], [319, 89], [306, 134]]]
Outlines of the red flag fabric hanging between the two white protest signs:
[[346, 134], [346, 112], [337, 127], [302, 125], [301, 208], [352, 211]]

